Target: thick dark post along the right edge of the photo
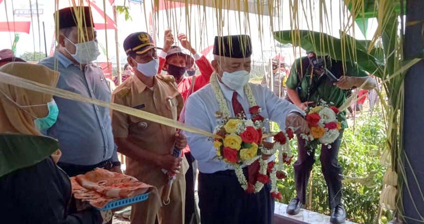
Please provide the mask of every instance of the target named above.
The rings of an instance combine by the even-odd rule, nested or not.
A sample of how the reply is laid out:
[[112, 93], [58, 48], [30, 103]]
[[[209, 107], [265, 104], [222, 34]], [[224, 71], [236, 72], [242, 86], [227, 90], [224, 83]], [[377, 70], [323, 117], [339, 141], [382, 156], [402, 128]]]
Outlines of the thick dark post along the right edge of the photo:
[[[423, 54], [424, 0], [406, 2], [404, 58], [408, 59]], [[401, 218], [403, 217], [407, 224], [424, 222], [423, 71], [424, 60], [421, 60], [408, 70], [405, 77], [404, 151], [401, 152], [405, 177], [399, 194], [402, 194], [403, 199]]]

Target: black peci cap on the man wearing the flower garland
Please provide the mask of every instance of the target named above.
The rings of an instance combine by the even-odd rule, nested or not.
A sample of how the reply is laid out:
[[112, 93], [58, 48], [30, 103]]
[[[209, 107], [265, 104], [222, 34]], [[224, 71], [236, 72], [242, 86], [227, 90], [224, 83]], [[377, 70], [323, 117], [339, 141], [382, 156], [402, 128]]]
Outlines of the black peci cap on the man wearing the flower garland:
[[247, 58], [252, 54], [248, 35], [215, 36], [213, 54], [229, 58]]

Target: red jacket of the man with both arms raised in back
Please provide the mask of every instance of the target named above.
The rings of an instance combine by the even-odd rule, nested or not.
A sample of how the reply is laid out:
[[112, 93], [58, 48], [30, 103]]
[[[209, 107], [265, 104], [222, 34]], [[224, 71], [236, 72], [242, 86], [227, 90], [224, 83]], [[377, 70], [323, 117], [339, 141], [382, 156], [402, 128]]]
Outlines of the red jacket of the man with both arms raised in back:
[[[159, 57], [159, 72], [162, 71], [162, 69], [165, 66], [166, 59], [163, 57]], [[195, 78], [195, 86], [193, 88], [193, 93], [200, 90], [202, 87], [209, 84], [209, 80], [211, 79], [211, 75], [213, 73], [213, 67], [211, 62], [202, 55], [202, 57], [199, 60], [196, 60], [196, 65], [199, 67], [200, 74], [196, 75]], [[183, 96], [184, 102], [186, 102], [187, 98], [190, 94], [190, 87], [192, 85], [193, 77], [185, 77], [181, 82], [178, 84], [178, 92]], [[184, 153], [190, 152], [189, 145], [186, 146], [186, 148], [183, 149]]]

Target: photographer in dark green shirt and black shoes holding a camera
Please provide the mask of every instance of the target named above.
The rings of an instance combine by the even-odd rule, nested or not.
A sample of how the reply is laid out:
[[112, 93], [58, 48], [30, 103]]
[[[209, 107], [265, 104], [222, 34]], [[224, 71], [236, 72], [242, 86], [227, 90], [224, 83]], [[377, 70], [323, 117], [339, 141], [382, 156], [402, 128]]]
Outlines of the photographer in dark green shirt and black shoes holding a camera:
[[[336, 107], [342, 106], [346, 100], [346, 90], [361, 86], [364, 89], [376, 87], [374, 79], [360, 70], [356, 65], [331, 59], [329, 56], [316, 56], [312, 51], [307, 57], [297, 59], [287, 80], [287, 94], [290, 100], [302, 110], [316, 106], [321, 100], [332, 103]], [[346, 112], [343, 112], [346, 114]], [[346, 117], [346, 116], [344, 116]], [[344, 223], [346, 212], [341, 203], [342, 182], [341, 167], [338, 163], [338, 152], [344, 128], [347, 128], [346, 119], [342, 122], [339, 138], [329, 147], [322, 145], [321, 170], [329, 192], [331, 209], [330, 222], [334, 224]], [[312, 165], [315, 162], [313, 149], [310, 155], [305, 140], [300, 136], [298, 139], [298, 158], [293, 164], [297, 196], [291, 200], [287, 207], [287, 214], [296, 215], [305, 204], [306, 188]]]

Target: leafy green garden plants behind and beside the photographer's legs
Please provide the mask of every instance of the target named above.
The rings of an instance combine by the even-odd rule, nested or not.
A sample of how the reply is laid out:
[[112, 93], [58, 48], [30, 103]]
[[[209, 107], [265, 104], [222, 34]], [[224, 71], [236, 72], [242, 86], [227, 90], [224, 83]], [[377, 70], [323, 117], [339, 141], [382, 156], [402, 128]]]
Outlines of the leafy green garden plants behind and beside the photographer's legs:
[[[380, 154], [385, 147], [387, 137], [381, 117], [382, 112], [379, 108], [372, 117], [358, 118], [355, 132], [353, 128], [347, 128], [343, 135], [339, 152], [339, 163], [342, 166], [343, 175], [353, 178], [368, 177], [366, 184], [352, 179], [343, 185], [343, 204], [346, 207], [347, 219], [352, 222], [374, 224], [378, 214], [379, 196], [385, 171], [385, 167], [380, 164]], [[297, 158], [296, 140], [292, 140], [290, 145], [294, 162]], [[306, 206], [311, 206], [312, 211], [329, 215], [328, 191], [321, 172], [319, 153], [320, 149], [315, 154], [316, 162], [311, 176], [312, 205], [309, 205], [309, 196], [307, 196]], [[286, 179], [277, 182], [283, 197], [281, 202], [286, 204], [296, 194], [292, 166], [287, 167], [287, 174]], [[386, 222], [387, 216], [388, 214], [383, 218]]]

